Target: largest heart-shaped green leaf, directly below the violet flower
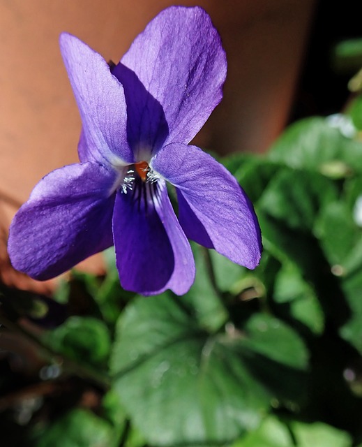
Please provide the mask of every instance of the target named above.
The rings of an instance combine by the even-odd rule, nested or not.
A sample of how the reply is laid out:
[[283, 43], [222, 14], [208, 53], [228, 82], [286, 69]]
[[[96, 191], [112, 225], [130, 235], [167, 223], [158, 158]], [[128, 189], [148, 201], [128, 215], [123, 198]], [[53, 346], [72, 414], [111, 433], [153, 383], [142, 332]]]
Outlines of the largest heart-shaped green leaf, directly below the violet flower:
[[210, 335], [183, 300], [139, 298], [117, 326], [114, 389], [147, 441], [227, 442], [257, 427], [279, 391], [281, 398], [303, 393], [306, 350], [291, 329], [257, 316], [243, 331], [227, 325]]

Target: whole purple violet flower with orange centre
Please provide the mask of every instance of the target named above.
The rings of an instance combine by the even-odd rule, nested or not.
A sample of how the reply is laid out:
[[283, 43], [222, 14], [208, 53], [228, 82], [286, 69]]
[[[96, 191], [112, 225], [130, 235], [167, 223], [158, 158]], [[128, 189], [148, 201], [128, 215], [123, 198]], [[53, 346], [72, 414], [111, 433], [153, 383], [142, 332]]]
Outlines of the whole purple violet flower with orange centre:
[[123, 288], [182, 295], [195, 277], [189, 238], [255, 268], [262, 244], [250, 201], [188, 145], [223, 96], [227, 62], [209, 15], [163, 10], [112, 67], [70, 34], [60, 46], [82, 117], [80, 163], [41, 179], [15, 215], [13, 266], [50, 279], [114, 244]]

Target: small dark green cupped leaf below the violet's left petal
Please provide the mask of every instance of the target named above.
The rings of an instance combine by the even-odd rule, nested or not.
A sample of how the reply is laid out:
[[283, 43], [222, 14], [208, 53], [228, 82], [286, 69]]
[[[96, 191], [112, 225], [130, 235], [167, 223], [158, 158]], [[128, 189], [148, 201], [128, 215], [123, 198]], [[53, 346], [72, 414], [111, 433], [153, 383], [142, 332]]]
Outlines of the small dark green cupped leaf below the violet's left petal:
[[83, 363], [105, 363], [110, 353], [107, 326], [93, 317], [70, 316], [58, 328], [47, 332], [43, 339], [54, 351]]

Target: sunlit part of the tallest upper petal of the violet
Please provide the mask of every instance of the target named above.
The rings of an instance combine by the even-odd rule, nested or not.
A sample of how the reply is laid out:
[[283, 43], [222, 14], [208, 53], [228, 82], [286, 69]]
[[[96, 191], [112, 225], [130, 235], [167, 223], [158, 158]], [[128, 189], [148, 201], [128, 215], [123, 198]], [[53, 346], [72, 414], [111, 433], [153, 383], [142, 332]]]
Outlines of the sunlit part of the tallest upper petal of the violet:
[[[199, 7], [171, 6], [147, 25], [114, 68], [122, 78], [130, 68], [146, 91], [162, 105], [169, 127], [167, 142], [188, 143], [202, 128], [223, 96], [227, 62], [218, 31]], [[124, 80], [128, 95], [132, 89]], [[146, 122], [157, 103], [147, 103]], [[132, 117], [142, 127], [143, 115]], [[161, 124], [163, 124], [161, 119]]]

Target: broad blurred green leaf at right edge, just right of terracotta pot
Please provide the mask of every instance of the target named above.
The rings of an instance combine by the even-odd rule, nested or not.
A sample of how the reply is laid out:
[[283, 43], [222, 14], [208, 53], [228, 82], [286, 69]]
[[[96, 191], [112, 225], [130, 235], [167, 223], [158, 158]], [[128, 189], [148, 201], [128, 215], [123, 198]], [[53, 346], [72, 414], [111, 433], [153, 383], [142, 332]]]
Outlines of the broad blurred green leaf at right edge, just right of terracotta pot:
[[269, 159], [327, 175], [331, 163], [339, 163], [339, 177], [347, 177], [362, 172], [362, 143], [346, 138], [328, 119], [312, 117], [292, 124], [271, 147]]

